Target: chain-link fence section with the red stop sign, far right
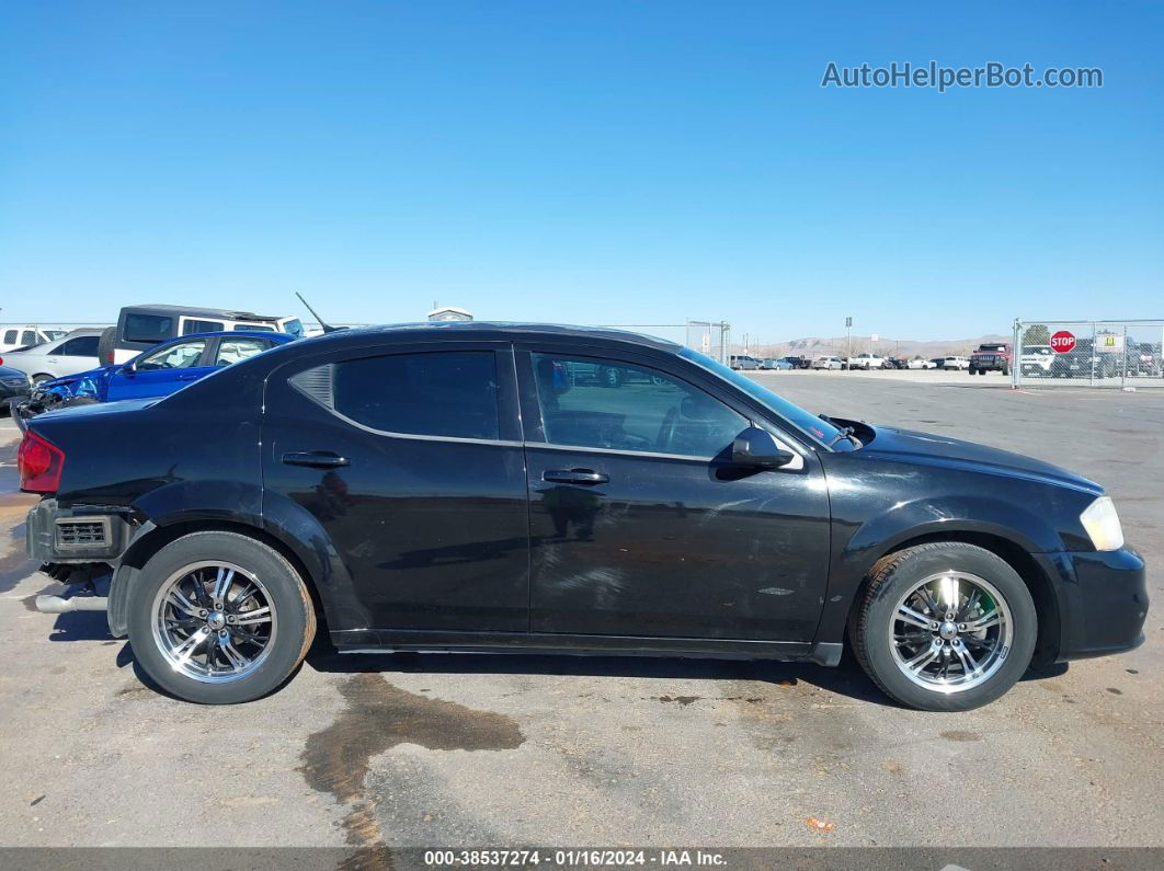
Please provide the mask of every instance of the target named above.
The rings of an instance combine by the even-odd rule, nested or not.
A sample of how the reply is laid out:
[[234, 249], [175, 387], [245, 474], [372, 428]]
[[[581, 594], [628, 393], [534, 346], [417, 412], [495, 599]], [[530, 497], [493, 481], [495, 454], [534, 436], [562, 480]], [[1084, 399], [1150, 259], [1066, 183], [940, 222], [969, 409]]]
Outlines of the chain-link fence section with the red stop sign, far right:
[[1164, 320], [1023, 321], [1014, 328], [1015, 387], [1164, 387]]

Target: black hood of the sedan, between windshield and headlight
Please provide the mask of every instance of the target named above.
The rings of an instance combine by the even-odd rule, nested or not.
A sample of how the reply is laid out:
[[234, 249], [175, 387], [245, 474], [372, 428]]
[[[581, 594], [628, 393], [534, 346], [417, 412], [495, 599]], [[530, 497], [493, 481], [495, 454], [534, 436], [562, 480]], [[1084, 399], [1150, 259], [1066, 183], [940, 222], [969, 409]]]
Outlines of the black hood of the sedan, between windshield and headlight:
[[[867, 440], [859, 454], [871, 459], [922, 463], [987, 474], [1020, 477], [1060, 487], [1072, 487], [1096, 495], [1103, 492], [1103, 487], [1095, 481], [1051, 463], [1024, 457], [1021, 454], [1012, 454], [975, 442], [965, 442], [960, 438], [910, 429], [870, 427], [867, 423], [861, 424], [861, 428], [872, 430], [872, 438]], [[860, 435], [859, 430], [858, 435]]]

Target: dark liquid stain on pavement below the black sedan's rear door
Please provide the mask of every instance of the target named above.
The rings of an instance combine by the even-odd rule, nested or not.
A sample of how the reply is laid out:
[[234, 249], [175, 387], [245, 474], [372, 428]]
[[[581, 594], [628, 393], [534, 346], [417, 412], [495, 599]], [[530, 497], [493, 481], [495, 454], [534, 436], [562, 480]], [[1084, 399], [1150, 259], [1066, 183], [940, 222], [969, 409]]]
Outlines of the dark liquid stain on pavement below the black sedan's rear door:
[[348, 805], [342, 827], [356, 848], [352, 868], [391, 868], [391, 856], [364, 794], [374, 756], [397, 744], [430, 750], [513, 750], [525, 743], [516, 721], [442, 699], [428, 699], [389, 684], [381, 674], [348, 678], [340, 692], [347, 707], [331, 726], [307, 737], [299, 772], [319, 792]]

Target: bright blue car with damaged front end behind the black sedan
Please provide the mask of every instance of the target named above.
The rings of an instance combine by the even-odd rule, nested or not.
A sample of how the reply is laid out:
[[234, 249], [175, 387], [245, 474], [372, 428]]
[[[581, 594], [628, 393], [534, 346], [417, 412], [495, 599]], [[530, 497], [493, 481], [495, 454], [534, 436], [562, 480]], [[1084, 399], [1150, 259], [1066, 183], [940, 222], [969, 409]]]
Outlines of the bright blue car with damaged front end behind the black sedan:
[[196, 333], [171, 338], [128, 363], [44, 381], [27, 401], [13, 407], [13, 416], [27, 420], [72, 405], [165, 397], [222, 366], [294, 340], [288, 333], [260, 330]]

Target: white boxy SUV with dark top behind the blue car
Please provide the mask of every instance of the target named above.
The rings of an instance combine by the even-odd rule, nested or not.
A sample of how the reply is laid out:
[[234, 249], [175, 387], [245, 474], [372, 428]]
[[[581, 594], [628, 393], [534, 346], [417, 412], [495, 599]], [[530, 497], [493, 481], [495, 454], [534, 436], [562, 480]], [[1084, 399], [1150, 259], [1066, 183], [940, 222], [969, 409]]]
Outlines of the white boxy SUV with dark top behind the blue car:
[[303, 322], [289, 315], [258, 315], [191, 306], [126, 306], [118, 316], [116, 326], [101, 334], [99, 363], [106, 366], [128, 363], [142, 351], [178, 336], [234, 330], [286, 333], [296, 337], [305, 335]]

